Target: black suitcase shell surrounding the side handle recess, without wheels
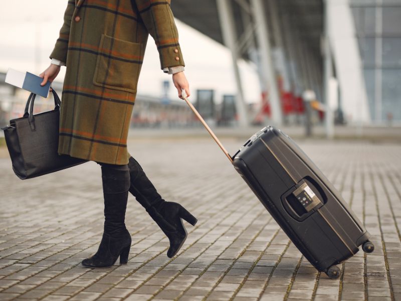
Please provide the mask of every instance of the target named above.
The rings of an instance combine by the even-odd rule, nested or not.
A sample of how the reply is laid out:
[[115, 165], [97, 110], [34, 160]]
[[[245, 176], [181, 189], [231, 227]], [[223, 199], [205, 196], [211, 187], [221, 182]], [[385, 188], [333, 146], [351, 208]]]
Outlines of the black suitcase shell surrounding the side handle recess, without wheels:
[[[299, 147], [292, 140], [288, 143], [285, 139], [286, 135], [280, 131], [266, 130], [252, 139], [252, 145], [240, 150], [234, 166], [298, 249], [318, 270], [324, 270], [356, 253], [358, 245], [367, 240], [368, 233], [359, 226], [360, 222], [352, 211], [341, 206], [341, 196], [324, 176], [319, 177], [322, 173], [312, 161], [306, 155], [298, 156]], [[243, 163], [240, 164], [240, 160]], [[326, 200], [316, 214], [297, 224], [279, 200], [286, 190], [305, 176], [316, 181]], [[318, 245], [316, 237], [319, 237]]]

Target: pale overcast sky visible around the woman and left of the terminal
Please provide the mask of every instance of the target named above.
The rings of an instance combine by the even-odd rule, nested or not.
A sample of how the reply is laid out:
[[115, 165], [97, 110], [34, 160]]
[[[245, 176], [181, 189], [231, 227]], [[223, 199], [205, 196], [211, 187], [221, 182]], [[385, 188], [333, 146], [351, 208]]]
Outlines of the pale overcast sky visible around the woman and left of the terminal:
[[[172, 0], [174, 5], [174, 0]], [[50, 64], [49, 55], [63, 24], [67, 0], [3, 1], [0, 10], [0, 72], [8, 68], [39, 75]], [[179, 42], [185, 61], [185, 75], [192, 95], [195, 89], [215, 89], [216, 100], [223, 94], [236, 93], [230, 52], [222, 45], [176, 20]], [[63, 81], [65, 68], [56, 78]], [[245, 98], [259, 100], [259, 81], [254, 66], [240, 63]], [[160, 96], [162, 81], [171, 75], [160, 69], [156, 46], [149, 37], [138, 82], [138, 94]], [[170, 84], [170, 96], [177, 97]]]

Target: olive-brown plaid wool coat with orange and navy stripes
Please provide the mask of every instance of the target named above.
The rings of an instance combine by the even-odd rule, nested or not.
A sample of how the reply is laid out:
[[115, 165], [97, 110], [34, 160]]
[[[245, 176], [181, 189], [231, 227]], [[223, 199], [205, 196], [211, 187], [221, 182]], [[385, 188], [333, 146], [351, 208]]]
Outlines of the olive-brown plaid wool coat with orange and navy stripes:
[[170, 0], [68, 1], [50, 55], [66, 63], [60, 155], [128, 163], [128, 128], [149, 34], [161, 69], [184, 66]]

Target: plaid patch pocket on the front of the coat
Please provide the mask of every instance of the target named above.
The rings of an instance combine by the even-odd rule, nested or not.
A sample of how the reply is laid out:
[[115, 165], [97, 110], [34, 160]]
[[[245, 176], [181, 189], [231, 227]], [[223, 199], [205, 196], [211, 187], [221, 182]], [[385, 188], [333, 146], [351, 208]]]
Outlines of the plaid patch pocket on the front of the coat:
[[141, 43], [102, 34], [93, 84], [135, 93], [142, 61]]

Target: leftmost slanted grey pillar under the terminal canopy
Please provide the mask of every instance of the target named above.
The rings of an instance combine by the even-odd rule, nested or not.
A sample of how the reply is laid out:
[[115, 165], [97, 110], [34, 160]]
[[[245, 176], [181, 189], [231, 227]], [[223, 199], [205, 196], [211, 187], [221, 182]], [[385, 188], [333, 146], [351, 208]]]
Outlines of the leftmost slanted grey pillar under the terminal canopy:
[[240, 76], [240, 70], [238, 68], [238, 59], [240, 54], [236, 46], [236, 30], [235, 23], [233, 20], [233, 9], [231, 7], [231, 0], [217, 0], [217, 8], [219, 13], [220, 25], [222, 27], [222, 34], [224, 44], [230, 49], [233, 60], [234, 76], [237, 82], [237, 97], [236, 107], [239, 115], [240, 126], [248, 126], [247, 109], [244, 100], [244, 92], [242, 89], [242, 82]]

